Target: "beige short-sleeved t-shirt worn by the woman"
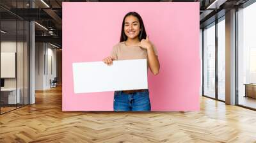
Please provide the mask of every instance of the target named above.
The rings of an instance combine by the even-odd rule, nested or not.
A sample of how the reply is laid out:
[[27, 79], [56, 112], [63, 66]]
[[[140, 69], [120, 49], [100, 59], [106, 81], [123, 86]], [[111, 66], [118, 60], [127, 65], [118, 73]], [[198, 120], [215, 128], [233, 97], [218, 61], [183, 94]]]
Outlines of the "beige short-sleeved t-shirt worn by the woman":
[[[155, 55], [157, 56], [157, 50], [154, 45], [153, 45], [153, 50]], [[140, 46], [125, 45], [124, 41], [117, 43], [113, 47], [113, 50], [111, 51], [110, 56], [114, 57], [116, 60], [147, 59], [148, 61], [147, 49], [143, 49]]]

